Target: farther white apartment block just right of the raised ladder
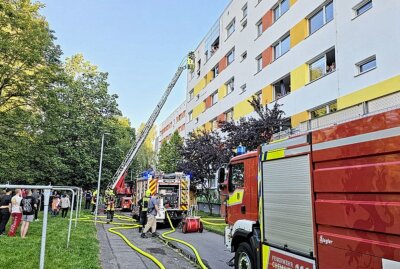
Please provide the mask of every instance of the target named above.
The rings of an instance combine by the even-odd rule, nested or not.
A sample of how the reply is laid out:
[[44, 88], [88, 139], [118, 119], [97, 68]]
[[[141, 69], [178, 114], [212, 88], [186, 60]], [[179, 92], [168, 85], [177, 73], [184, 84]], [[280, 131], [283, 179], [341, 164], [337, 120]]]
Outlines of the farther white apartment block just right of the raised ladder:
[[186, 118], [186, 101], [176, 108], [168, 117], [161, 123], [160, 135], [157, 140], [161, 145], [164, 141], [169, 140], [175, 131], [179, 132], [181, 137], [185, 137], [185, 118]]

